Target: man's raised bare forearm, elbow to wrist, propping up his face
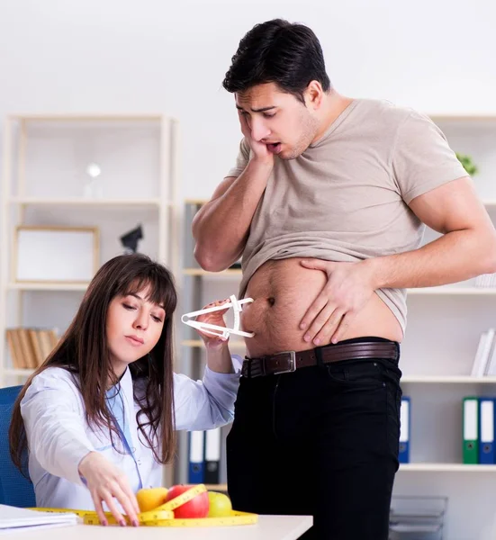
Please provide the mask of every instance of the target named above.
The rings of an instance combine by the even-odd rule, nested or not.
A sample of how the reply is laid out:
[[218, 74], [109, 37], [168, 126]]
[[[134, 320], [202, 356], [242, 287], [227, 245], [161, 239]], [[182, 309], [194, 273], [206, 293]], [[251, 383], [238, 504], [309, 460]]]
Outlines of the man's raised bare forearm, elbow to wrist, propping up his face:
[[273, 160], [251, 159], [237, 178], [225, 178], [196, 213], [194, 257], [203, 269], [220, 272], [238, 260], [273, 166]]

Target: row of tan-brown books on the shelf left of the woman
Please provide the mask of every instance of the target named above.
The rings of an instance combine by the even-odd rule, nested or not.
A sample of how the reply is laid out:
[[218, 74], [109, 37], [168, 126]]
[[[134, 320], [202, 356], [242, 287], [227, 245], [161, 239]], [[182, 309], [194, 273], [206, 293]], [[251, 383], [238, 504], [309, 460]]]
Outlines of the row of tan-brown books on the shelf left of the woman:
[[14, 369], [36, 369], [59, 342], [55, 329], [15, 328], [5, 333]]

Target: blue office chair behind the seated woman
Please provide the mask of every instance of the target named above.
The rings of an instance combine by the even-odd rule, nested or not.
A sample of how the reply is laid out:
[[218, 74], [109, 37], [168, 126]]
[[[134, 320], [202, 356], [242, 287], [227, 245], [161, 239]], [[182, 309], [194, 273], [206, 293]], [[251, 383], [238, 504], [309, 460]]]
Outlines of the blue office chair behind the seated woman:
[[32, 482], [14, 466], [9, 452], [8, 432], [12, 409], [22, 388], [0, 388], [0, 504], [32, 508], [36, 506]]

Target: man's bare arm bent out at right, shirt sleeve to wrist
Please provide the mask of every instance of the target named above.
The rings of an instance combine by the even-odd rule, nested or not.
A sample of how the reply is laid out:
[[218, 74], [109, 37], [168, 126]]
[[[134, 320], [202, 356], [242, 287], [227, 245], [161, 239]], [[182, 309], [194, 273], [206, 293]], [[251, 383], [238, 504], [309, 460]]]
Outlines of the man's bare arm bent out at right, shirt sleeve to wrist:
[[464, 177], [419, 195], [411, 210], [443, 236], [414, 251], [365, 261], [374, 288], [430, 287], [496, 272], [496, 233]]

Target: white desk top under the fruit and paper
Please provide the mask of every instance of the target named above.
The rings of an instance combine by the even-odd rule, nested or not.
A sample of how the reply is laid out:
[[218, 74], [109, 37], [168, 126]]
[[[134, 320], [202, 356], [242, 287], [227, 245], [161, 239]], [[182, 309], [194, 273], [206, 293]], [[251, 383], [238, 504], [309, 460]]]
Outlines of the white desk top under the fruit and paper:
[[9, 538], [31, 540], [296, 540], [313, 523], [311, 516], [259, 516], [256, 525], [236, 527], [99, 527], [76, 525], [16, 532]]

